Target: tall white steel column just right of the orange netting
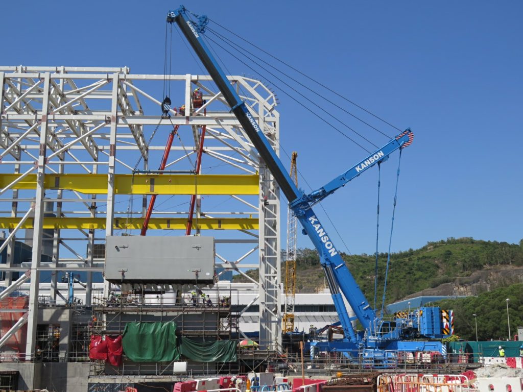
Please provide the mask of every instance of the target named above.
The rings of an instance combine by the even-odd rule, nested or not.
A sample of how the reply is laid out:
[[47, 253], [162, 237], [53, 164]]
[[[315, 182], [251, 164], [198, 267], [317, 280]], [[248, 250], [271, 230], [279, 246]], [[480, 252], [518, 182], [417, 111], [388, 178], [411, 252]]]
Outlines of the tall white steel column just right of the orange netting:
[[[36, 179], [35, 224], [31, 256], [31, 283], [29, 287], [29, 311], [27, 324], [26, 361], [31, 360], [35, 349], [36, 329], [38, 321], [38, 286], [40, 284], [40, 258], [42, 255], [42, 223], [44, 211], [44, 175], [46, 171], [47, 127], [49, 112], [50, 74], [44, 74], [43, 102], [40, 123], [40, 148], [38, 153], [38, 168]], [[32, 388], [32, 386], [29, 386]]]

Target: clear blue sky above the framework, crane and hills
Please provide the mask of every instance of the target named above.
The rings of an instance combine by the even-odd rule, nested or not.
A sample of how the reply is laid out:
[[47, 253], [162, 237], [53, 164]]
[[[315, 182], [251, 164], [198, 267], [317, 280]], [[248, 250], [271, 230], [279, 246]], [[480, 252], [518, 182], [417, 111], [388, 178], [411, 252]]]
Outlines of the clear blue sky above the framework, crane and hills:
[[[177, 6], [5, 2], [0, 63], [162, 73], [165, 15]], [[509, 243], [523, 238], [522, 2], [206, 0], [186, 6], [399, 128], [412, 128], [414, 144], [402, 158], [394, 251], [451, 236]], [[200, 73], [178, 34], [173, 39], [172, 73]], [[226, 55], [222, 59], [232, 73], [253, 74]], [[276, 92], [281, 145], [298, 151], [300, 171], [313, 188], [367, 155]], [[387, 141], [343, 118], [374, 143]], [[396, 165], [397, 154], [382, 170], [381, 251], [388, 245]], [[352, 253], [374, 251], [376, 186], [372, 170], [324, 202]], [[299, 246], [312, 245], [302, 237]]]

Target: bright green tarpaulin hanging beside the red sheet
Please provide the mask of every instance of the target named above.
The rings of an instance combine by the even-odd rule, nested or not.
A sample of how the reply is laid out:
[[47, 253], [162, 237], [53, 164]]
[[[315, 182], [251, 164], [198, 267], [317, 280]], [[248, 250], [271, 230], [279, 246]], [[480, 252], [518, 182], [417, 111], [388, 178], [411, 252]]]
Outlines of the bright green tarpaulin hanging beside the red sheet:
[[180, 355], [176, 345], [175, 322], [128, 322], [122, 346], [133, 362], [170, 362]]

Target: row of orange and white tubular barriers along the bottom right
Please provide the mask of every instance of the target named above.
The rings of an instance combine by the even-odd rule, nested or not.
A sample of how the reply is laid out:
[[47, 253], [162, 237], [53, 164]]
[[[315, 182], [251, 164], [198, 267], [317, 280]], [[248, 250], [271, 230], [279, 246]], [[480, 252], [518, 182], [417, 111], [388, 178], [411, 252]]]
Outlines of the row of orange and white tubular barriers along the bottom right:
[[380, 375], [377, 382], [378, 392], [471, 392], [475, 390], [467, 376], [455, 374]]

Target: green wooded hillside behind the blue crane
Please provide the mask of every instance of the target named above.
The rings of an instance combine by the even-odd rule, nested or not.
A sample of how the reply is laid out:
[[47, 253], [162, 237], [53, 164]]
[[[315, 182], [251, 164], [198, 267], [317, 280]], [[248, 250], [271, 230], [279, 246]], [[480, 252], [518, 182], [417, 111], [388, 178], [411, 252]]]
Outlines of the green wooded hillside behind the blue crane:
[[[363, 293], [370, 302], [373, 302], [375, 256], [342, 253], [342, 257]], [[386, 253], [380, 253], [378, 258], [378, 306], [380, 306], [383, 291], [386, 259]], [[282, 282], [285, 282], [285, 252], [282, 254], [282, 263]], [[472, 238], [448, 238], [429, 242], [420, 249], [391, 253], [385, 302], [391, 303], [421, 290], [455, 282], [457, 278], [470, 276], [476, 271], [515, 267], [523, 267], [523, 240], [519, 245]], [[248, 271], [247, 274], [254, 279], [258, 278], [257, 270]], [[246, 279], [237, 275], [235, 281], [241, 282]], [[514, 283], [510, 279], [507, 282]], [[492, 282], [487, 282], [486, 286], [488, 290], [492, 290], [507, 282], [494, 279]], [[317, 252], [312, 249], [299, 249], [297, 291], [314, 292], [316, 287], [323, 284], [324, 274]]]

